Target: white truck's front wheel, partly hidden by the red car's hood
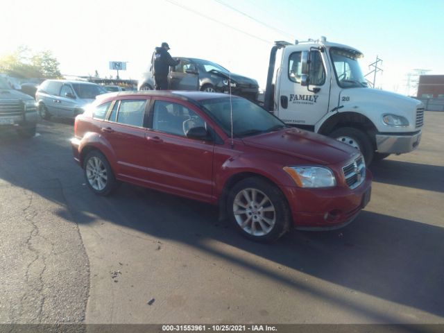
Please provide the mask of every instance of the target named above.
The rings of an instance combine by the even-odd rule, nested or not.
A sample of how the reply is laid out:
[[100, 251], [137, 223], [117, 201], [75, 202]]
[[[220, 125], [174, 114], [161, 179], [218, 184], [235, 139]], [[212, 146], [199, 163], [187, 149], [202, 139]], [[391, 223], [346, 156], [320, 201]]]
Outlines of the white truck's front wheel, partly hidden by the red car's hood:
[[372, 144], [366, 133], [357, 130], [356, 128], [343, 127], [334, 130], [329, 136], [361, 151], [364, 160], [366, 161], [366, 166], [370, 165], [372, 162], [375, 152], [373, 151]]

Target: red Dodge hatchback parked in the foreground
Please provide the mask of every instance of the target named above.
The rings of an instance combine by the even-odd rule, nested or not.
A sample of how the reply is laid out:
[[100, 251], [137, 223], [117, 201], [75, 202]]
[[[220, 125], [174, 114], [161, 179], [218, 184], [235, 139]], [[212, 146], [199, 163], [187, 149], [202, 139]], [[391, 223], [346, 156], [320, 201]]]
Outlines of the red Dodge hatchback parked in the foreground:
[[339, 228], [370, 200], [359, 151], [236, 96], [105, 94], [76, 117], [74, 133], [74, 158], [94, 193], [110, 194], [120, 180], [219, 205], [257, 241], [293, 227]]

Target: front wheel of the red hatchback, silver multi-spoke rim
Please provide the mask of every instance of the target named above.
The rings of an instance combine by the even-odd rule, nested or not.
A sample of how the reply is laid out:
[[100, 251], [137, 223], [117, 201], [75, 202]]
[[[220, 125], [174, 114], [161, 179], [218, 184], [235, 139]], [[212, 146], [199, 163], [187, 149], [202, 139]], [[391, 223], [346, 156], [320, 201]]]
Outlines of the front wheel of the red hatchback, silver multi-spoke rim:
[[228, 194], [228, 216], [248, 239], [269, 243], [290, 228], [291, 214], [284, 195], [270, 182], [246, 178]]

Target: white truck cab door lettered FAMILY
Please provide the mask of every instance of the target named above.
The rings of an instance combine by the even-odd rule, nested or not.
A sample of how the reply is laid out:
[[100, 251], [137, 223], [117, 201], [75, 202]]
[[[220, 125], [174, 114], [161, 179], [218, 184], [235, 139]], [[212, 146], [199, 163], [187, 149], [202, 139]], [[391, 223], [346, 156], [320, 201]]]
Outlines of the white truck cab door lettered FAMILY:
[[276, 89], [278, 117], [285, 123], [314, 126], [327, 113], [330, 99], [330, 67], [320, 51], [310, 51], [309, 85], [300, 83], [302, 51], [305, 47], [287, 48], [282, 55], [282, 67]]

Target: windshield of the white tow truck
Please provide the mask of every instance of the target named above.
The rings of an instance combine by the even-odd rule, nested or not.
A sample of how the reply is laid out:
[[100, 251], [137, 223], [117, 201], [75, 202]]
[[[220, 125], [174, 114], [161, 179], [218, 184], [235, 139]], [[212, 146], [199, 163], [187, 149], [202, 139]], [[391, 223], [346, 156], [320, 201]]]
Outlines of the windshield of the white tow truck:
[[343, 88], [367, 87], [357, 56], [346, 49], [330, 49], [336, 80]]

